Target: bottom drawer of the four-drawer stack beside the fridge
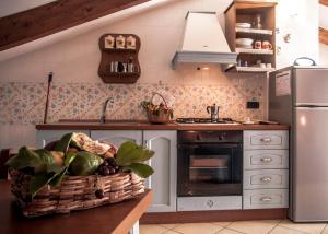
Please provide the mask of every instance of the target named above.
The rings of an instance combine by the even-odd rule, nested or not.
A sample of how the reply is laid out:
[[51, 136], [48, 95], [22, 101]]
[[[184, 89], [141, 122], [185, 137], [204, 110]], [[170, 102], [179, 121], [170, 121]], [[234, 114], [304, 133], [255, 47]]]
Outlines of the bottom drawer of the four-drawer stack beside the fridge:
[[288, 208], [288, 189], [244, 190], [243, 209]]

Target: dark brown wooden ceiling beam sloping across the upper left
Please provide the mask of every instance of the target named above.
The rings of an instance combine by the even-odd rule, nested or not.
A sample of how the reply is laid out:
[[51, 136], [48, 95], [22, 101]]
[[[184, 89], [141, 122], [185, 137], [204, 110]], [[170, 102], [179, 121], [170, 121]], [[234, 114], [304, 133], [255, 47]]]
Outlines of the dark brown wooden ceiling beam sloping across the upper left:
[[0, 19], [0, 51], [149, 0], [58, 0]]

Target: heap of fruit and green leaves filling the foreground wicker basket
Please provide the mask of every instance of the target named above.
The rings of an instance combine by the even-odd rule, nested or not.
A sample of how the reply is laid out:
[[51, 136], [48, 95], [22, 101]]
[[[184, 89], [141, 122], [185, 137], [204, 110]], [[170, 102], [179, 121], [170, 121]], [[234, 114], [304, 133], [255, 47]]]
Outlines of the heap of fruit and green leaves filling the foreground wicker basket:
[[55, 187], [60, 184], [65, 175], [113, 175], [119, 171], [131, 171], [147, 178], [153, 169], [142, 162], [153, 155], [153, 151], [132, 141], [122, 143], [117, 150], [112, 144], [93, 141], [84, 133], [69, 133], [52, 149], [22, 147], [7, 165], [32, 176], [28, 191], [33, 198], [45, 185]]

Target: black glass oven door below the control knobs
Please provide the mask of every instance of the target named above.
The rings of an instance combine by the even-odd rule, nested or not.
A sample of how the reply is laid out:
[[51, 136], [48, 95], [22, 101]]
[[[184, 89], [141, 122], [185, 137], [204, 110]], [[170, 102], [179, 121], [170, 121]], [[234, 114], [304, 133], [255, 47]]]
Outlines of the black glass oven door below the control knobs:
[[178, 148], [178, 196], [242, 195], [241, 144]]

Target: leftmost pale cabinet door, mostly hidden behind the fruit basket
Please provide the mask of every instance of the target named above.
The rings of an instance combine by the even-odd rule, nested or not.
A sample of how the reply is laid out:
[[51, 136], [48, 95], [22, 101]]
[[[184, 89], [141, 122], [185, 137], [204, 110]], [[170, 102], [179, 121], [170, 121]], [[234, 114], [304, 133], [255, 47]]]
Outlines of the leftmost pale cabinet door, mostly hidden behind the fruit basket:
[[83, 132], [90, 136], [89, 130], [38, 130], [36, 131], [36, 148], [44, 148], [51, 141], [59, 140], [63, 134]]

